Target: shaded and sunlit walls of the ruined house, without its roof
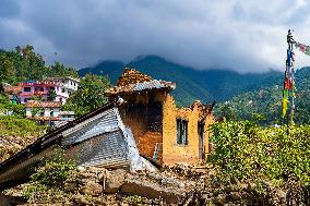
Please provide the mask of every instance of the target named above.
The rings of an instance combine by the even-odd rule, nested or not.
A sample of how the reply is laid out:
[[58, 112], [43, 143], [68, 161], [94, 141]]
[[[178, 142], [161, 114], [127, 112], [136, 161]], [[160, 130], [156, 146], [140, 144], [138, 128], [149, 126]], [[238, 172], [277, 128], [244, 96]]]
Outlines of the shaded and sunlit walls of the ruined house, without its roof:
[[[208, 153], [208, 125], [214, 122], [207, 106], [195, 101], [189, 108], [177, 108], [174, 98], [164, 93], [144, 93], [122, 96], [127, 101], [120, 108], [122, 121], [130, 126], [140, 153], [153, 158], [156, 144], [162, 144], [158, 163], [195, 162], [199, 160], [198, 122], [203, 122], [203, 150]], [[188, 145], [177, 144], [176, 119], [188, 121]]]

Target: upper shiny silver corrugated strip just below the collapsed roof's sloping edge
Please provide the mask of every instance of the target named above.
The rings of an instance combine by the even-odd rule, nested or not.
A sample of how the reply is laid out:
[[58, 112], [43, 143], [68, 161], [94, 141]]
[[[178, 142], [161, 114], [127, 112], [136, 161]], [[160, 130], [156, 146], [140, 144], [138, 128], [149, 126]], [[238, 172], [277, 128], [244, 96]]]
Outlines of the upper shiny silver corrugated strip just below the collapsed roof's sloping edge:
[[118, 130], [117, 113], [114, 109], [104, 111], [103, 113], [88, 119], [80, 124], [69, 129], [62, 133], [61, 144], [67, 146], [76, 144], [106, 132]]

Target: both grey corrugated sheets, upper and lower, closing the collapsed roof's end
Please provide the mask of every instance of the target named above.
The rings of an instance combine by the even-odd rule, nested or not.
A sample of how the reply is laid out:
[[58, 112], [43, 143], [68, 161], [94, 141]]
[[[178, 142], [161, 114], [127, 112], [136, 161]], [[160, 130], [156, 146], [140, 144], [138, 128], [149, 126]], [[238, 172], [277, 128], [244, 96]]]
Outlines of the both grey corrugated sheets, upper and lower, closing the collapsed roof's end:
[[63, 132], [62, 145], [80, 166], [129, 167], [128, 144], [117, 108]]

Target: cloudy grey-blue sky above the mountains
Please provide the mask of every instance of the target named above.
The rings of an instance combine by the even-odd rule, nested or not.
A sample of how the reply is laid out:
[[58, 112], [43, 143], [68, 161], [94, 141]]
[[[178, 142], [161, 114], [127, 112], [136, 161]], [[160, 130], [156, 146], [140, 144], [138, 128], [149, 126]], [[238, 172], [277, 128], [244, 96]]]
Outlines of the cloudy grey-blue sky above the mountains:
[[[1, 0], [0, 48], [29, 44], [76, 69], [157, 54], [198, 69], [283, 70], [288, 28], [310, 45], [309, 11], [307, 0]], [[310, 56], [296, 51], [296, 65]]]

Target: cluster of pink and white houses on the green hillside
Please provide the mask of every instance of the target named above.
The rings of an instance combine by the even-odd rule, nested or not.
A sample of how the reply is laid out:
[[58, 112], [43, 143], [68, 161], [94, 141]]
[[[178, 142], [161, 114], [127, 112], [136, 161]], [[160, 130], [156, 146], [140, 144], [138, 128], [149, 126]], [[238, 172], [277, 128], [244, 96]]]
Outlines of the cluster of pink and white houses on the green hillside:
[[[26, 118], [41, 123], [74, 120], [74, 111], [61, 111], [71, 93], [78, 90], [79, 78], [70, 76], [47, 77], [43, 81], [27, 81], [17, 86], [4, 85], [4, 93], [12, 105], [25, 106]], [[10, 111], [7, 111], [10, 112]]]

